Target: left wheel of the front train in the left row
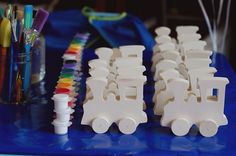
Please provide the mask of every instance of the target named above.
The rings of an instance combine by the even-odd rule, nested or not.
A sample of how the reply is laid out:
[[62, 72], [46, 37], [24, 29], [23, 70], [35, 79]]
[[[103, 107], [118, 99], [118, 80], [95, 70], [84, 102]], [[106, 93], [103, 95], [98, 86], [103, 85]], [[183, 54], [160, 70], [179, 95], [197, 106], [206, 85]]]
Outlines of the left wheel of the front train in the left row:
[[110, 123], [104, 117], [97, 117], [92, 122], [92, 128], [96, 133], [105, 133], [109, 127]]

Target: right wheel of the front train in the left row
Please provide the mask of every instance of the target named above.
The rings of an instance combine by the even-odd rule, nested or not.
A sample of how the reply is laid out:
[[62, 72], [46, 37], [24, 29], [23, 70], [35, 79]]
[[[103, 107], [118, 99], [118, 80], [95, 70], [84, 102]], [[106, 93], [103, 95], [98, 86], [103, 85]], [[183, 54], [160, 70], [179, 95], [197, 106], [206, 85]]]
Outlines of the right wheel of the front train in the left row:
[[132, 118], [121, 119], [118, 124], [119, 130], [124, 134], [132, 134], [137, 128], [137, 123]]

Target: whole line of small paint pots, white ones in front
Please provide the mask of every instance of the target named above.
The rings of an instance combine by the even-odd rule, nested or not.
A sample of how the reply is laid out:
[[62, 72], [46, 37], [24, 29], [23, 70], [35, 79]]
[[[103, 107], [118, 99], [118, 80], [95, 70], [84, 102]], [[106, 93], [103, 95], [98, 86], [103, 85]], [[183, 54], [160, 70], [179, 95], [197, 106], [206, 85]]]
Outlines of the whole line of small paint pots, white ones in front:
[[[75, 103], [79, 98], [78, 91], [82, 51], [88, 38], [88, 33], [76, 34], [62, 57], [63, 67], [61, 69], [59, 80], [52, 98], [54, 100], [54, 111], [56, 112], [56, 119], [52, 124], [54, 125], [56, 134], [66, 134], [68, 131], [68, 126], [71, 125], [70, 115], [74, 112], [73, 108], [75, 107]], [[65, 95], [67, 95], [68, 98], [66, 98]], [[65, 99], [67, 99], [67, 101]], [[62, 101], [67, 104], [67, 107], [57, 106], [59, 104], [65, 105], [65, 103]], [[58, 107], [62, 107], [63, 109], [57, 109]]]

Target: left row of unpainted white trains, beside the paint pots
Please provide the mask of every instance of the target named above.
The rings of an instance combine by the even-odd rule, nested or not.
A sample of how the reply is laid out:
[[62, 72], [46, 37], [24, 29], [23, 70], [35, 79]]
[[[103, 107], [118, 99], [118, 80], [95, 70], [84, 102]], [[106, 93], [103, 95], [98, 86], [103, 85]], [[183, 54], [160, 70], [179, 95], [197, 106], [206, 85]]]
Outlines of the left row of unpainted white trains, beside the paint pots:
[[81, 124], [105, 133], [116, 123], [122, 133], [132, 134], [140, 123], [147, 122], [143, 111], [143, 50], [139, 45], [96, 49], [98, 59], [89, 61], [91, 77], [86, 81]]

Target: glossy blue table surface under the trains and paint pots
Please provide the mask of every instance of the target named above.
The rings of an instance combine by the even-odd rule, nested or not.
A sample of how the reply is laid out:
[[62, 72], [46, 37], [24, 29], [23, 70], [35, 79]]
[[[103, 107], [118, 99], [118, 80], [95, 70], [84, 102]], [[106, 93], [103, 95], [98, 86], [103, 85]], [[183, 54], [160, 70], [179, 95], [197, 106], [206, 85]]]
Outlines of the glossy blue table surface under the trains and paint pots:
[[[72, 22], [65, 24], [59, 21], [59, 23], [63, 26], [71, 26], [73, 32], [72, 29], [66, 31], [62, 29], [63, 34], [58, 37], [58, 28], [50, 35], [46, 34], [46, 76], [43, 82], [33, 87], [36, 98], [27, 105], [0, 104], [0, 153], [191, 156], [236, 154], [236, 75], [227, 59], [218, 53], [212, 56], [212, 66], [218, 70], [216, 76], [224, 76], [230, 80], [225, 96], [225, 114], [229, 124], [220, 127], [214, 137], [202, 137], [196, 127], [193, 127], [186, 136], [176, 137], [169, 128], [160, 126], [160, 117], [154, 116], [152, 111], [154, 82], [150, 72], [152, 53], [148, 51], [144, 52], [144, 64], [147, 68], [145, 74], [148, 77], [144, 88], [148, 123], [140, 124], [132, 135], [121, 134], [116, 125], [112, 125], [105, 134], [95, 134], [90, 127], [80, 125], [83, 109], [77, 105], [72, 120], [73, 125], [69, 128], [68, 134], [54, 134], [51, 125], [54, 116], [53, 102], [50, 98], [62, 67], [61, 56], [77, 29]], [[66, 36], [66, 34], [70, 35]], [[84, 82], [88, 76], [87, 62], [92, 58], [95, 58], [94, 51], [86, 49], [83, 55], [83, 85], [79, 100], [84, 97]]]

